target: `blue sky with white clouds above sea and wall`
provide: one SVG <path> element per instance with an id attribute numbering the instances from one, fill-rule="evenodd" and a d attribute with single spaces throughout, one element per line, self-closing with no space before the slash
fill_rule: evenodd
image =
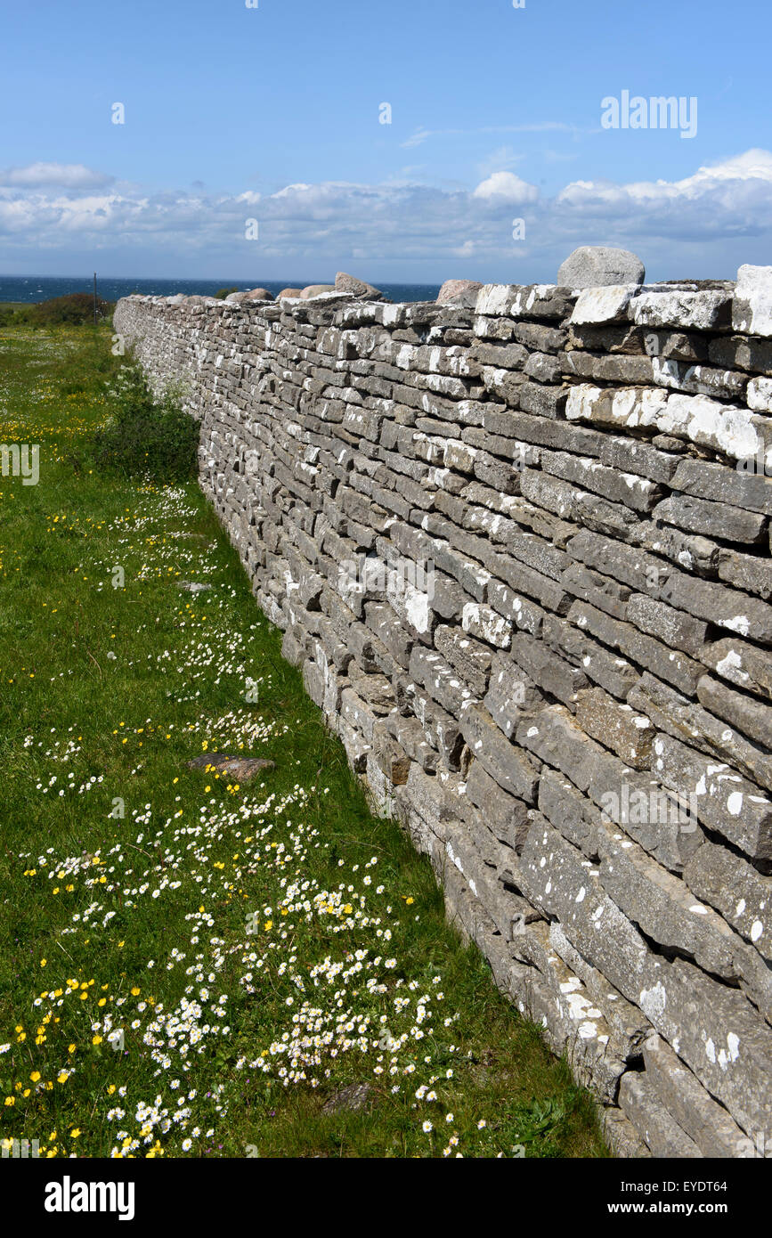
<path id="1" fill-rule="evenodd" d="M 2 0 L 0 17 L 2 274 L 528 282 L 580 244 L 633 249 L 651 279 L 772 262 L 760 0 Z M 622 92 L 648 128 L 604 128 Z M 683 98 L 694 136 L 687 113 L 653 128 L 652 97 Z"/>

